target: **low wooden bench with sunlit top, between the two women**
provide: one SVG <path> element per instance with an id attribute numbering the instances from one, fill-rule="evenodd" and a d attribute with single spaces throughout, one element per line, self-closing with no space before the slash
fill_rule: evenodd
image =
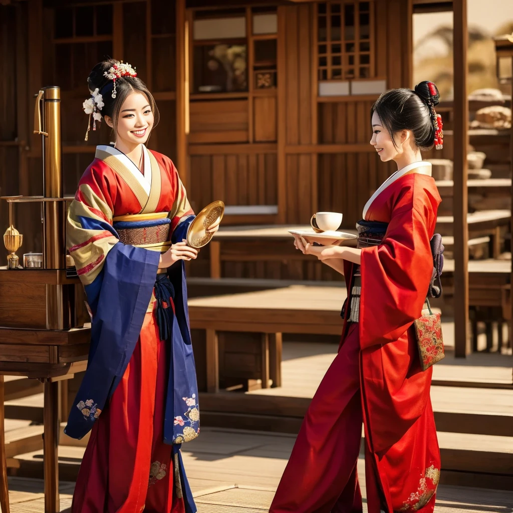
<path id="1" fill-rule="evenodd" d="M 289 285 L 189 300 L 200 390 L 281 386 L 282 333 L 340 336 L 345 285 Z"/>

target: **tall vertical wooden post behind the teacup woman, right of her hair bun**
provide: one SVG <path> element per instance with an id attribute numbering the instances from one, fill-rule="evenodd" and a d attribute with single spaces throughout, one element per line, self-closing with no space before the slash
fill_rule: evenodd
<path id="1" fill-rule="evenodd" d="M 454 320 L 455 356 L 466 357 L 471 351 L 468 336 L 468 225 L 467 225 L 467 0 L 453 4 L 454 26 Z"/>

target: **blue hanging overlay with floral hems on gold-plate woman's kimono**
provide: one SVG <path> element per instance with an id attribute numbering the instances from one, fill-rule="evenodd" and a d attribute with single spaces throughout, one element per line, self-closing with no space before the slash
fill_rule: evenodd
<path id="1" fill-rule="evenodd" d="M 194 216 L 190 216 L 176 227 L 172 235 L 173 244 L 186 238 L 187 229 L 193 219 Z M 115 233 L 111 226 L 109 231 Z M 159 259 L 158 251 L 116 243 L 107 253 L 98 277 L 85 287 L 94 315 L 87 370 L 64 429 L 71 438 L 81 439 L 90 431 L 99 415 L 97 410 L 101 412 L 105 407 L 108 408 L 108 400 L 123 378 L 139 340 L 155 286 Z M 168 335 L 172 350 L 164 415 L 164 442 L 173 445 L 173 458 L 177 458 L 179 462 L 186 513 L 195 513 L 196 506 L 180 452 L 181 444 L 173 443 L 183 430 L 180 425 L 174 426 L 175 416 L 183 415 L 184 412 L 183 398 L 195 397 L 198 400 L 183 261 L 173 264 L 168 269 L 167 276 L 172 285 L 171 289 L 174 288 L 175 314 L 172 308 L 165 309 L 169 318 L 164 322 L 170 328 Z M 157 293 L 155 297 L 159 299 Z M 90 407 L 89 415 L 84 415 L 75 405 L 91 398 L 94 404 Z M 195 424 L 199 426 L 199 421 Z"/>

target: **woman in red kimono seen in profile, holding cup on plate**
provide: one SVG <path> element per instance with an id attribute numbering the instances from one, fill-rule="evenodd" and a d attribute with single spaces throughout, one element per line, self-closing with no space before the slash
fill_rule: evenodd
<path id="1" fill-rule="evenodd" d="M 421 370 L 411 326 L 433 270 L 430 240 L 441 200 L 420 149 L 441 146 L 437 103 L 435 85 L 423 82 L 415 91 L 383 93 L 374 104 L 370 144 L 398 171 L 367 202 L 358 248 L 295 239 L 298 249 L 345 275 L 348 306 L 339 352 L 312 399 L 271 513 L 360 513 L 362 422 L 369 513 L 435 507 L 432 369 Z"/>

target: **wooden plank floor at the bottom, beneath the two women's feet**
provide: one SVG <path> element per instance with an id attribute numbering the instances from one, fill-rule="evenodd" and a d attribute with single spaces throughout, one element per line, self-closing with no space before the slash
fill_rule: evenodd
<path id="1" fill-rule="evenodd" d="M 203 428 L 200 438 L 183 446 L 185 467 L 199 513 L 268 511 L 294 438 L 276 433 Z M 73 449 L 75 457 L 80 457 L 84 450 L 64 449 Z M 358 465 L 365 500 L 363 459 Z M 73 487 L 73 483 L 61 483 L 61 511 L 70 507 Z M 9 489 L 12 513 L 44 511 L 41 480 L 9 478 Z M 512 506 L 513 492 L 441 485 L 435 511 L 511 513 Z M 365 504 L 364 511 L 367 511 Z"/>

